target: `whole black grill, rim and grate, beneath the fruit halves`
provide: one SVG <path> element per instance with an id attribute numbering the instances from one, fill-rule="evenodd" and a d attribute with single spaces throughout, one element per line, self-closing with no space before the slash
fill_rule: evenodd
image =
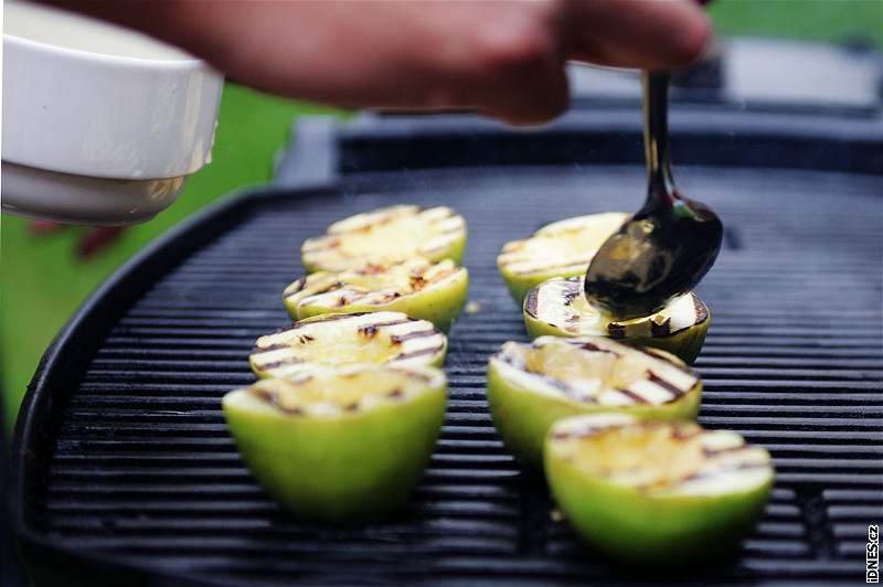
<path id="1" fill-rule="evenodd" d="M 597 105 L 596 105 L 597 106 Z M 275 186 L 233 196 L 124 267 L 60 334 L 14 439 L 12 525 L 45 584 L 641 583 L 550 516 L 542 479 L 503 449 L 485 369 L 525 340 L 497 275 L 502 244 L 575 213 L 636 209 L 635 108 L 576 110 L 539 131 L 469 116 L 366 115 L 299 127 Z M 773 453 L 778 478 L 737 557 L 678 583 L 855 583 L 883 517 L 883 127 L 869 115 L 684 105 L 685 193 L 725 246 L 701 297 L 700 421 Z M 392 519 L 330 529 L 281 512 L 249 477 L 220 398 L 287 322 L 304 238 L 392 203 L 469 223 L 470 299 L 451 332 L 448 412 L 425 479 Z M 305 474 L 309 474 L 305 471 Z"/>

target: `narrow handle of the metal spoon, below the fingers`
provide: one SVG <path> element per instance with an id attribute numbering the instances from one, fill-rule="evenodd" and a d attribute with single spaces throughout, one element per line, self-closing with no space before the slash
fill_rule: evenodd
<path id="1" fill-rule="evenodd" d="M 674 204 L 674 180 L 669 157 L 669 73 L 641 74 L 643 83 L 643 152 L 648 194 L 645 207 Z"/>

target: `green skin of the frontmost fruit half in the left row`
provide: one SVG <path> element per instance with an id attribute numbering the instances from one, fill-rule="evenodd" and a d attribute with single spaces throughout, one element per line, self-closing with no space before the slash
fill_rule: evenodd
<path id="1" fill-rule="evenodd" d="M 423 476 L 445 417 L 446 386 L 402 404 L 334 418 L 290 416 L 224 402 L 236 448 L 264 490 L 298 517 L 377 520 Z"/>

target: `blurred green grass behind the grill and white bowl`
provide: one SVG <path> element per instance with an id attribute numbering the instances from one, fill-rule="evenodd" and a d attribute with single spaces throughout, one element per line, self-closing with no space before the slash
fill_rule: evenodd
<path id="1" fill-rule="evenodd" d="M 883 0 L 717 0 L 717 31 L 837 41 L 861 36 L 883 46 Z M 269 180 L 274 154 L 298 116 L 331 113 L 227 84 L 213 162 L 195 173 L 179 201 L 156 220 L 127 231 L 95 258 L 76 258 L 83 234 L 71 228 L 35 237 L 26 222 L 0 220 L 0 389 L 9 429 L 28 382 L 52 338 L 108 275 L 147 243 L 233 189 Z"/>

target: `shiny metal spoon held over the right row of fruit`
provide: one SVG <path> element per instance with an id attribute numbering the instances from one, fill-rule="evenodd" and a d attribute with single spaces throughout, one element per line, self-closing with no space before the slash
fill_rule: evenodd
<path id="1" fill-rule="evenodd" d="M 588 301 L 620 320 L 649 316 L 689 291 L 721 249 L 723 224 L 704 204 L 682 195 L 669 162 L 667 72 L 643 72 L 643 206 L 592 259 Z"/>

